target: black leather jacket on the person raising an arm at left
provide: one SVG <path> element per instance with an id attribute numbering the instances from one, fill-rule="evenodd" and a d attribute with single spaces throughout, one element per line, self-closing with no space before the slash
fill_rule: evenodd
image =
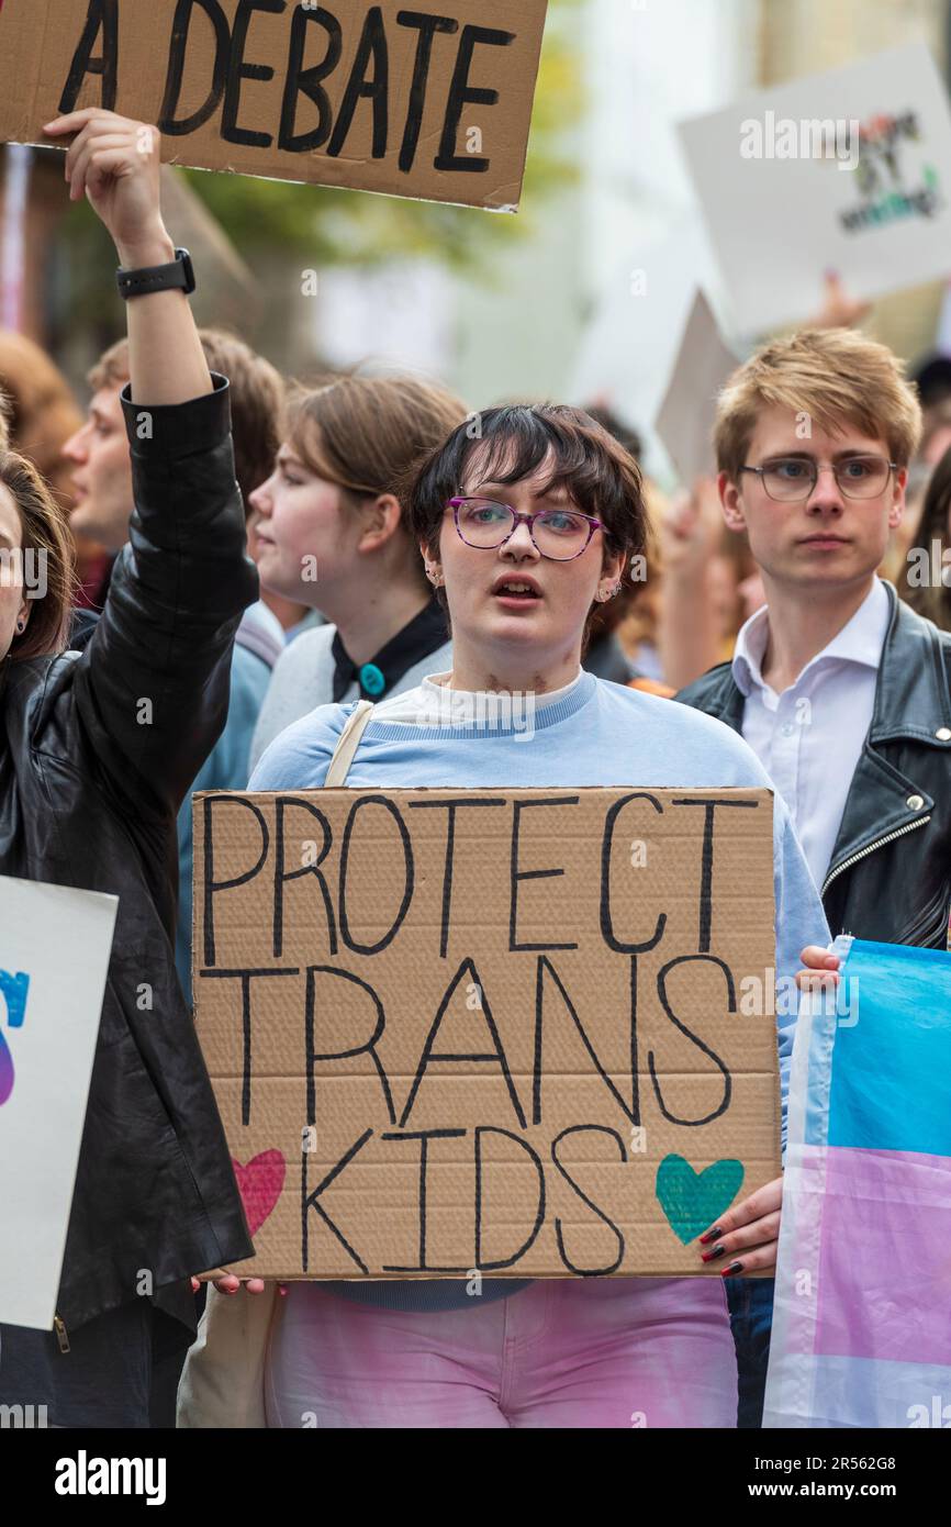
<path id="1" fill-rule="evenodd" d="M 148 1292 L 143 1272 L 194 1328 L 188 1275 L 252 1254 L 172 941 L 176 812 L 224 725 L 258 577 L 224 379 L 150 408 L 147 441 L 142 405 L 122 403 L 136 513 L 102 618 L 81 655 L 0 663 L 0 873 L 119 898 L 60 1284 L 67 1330 Z"/>

